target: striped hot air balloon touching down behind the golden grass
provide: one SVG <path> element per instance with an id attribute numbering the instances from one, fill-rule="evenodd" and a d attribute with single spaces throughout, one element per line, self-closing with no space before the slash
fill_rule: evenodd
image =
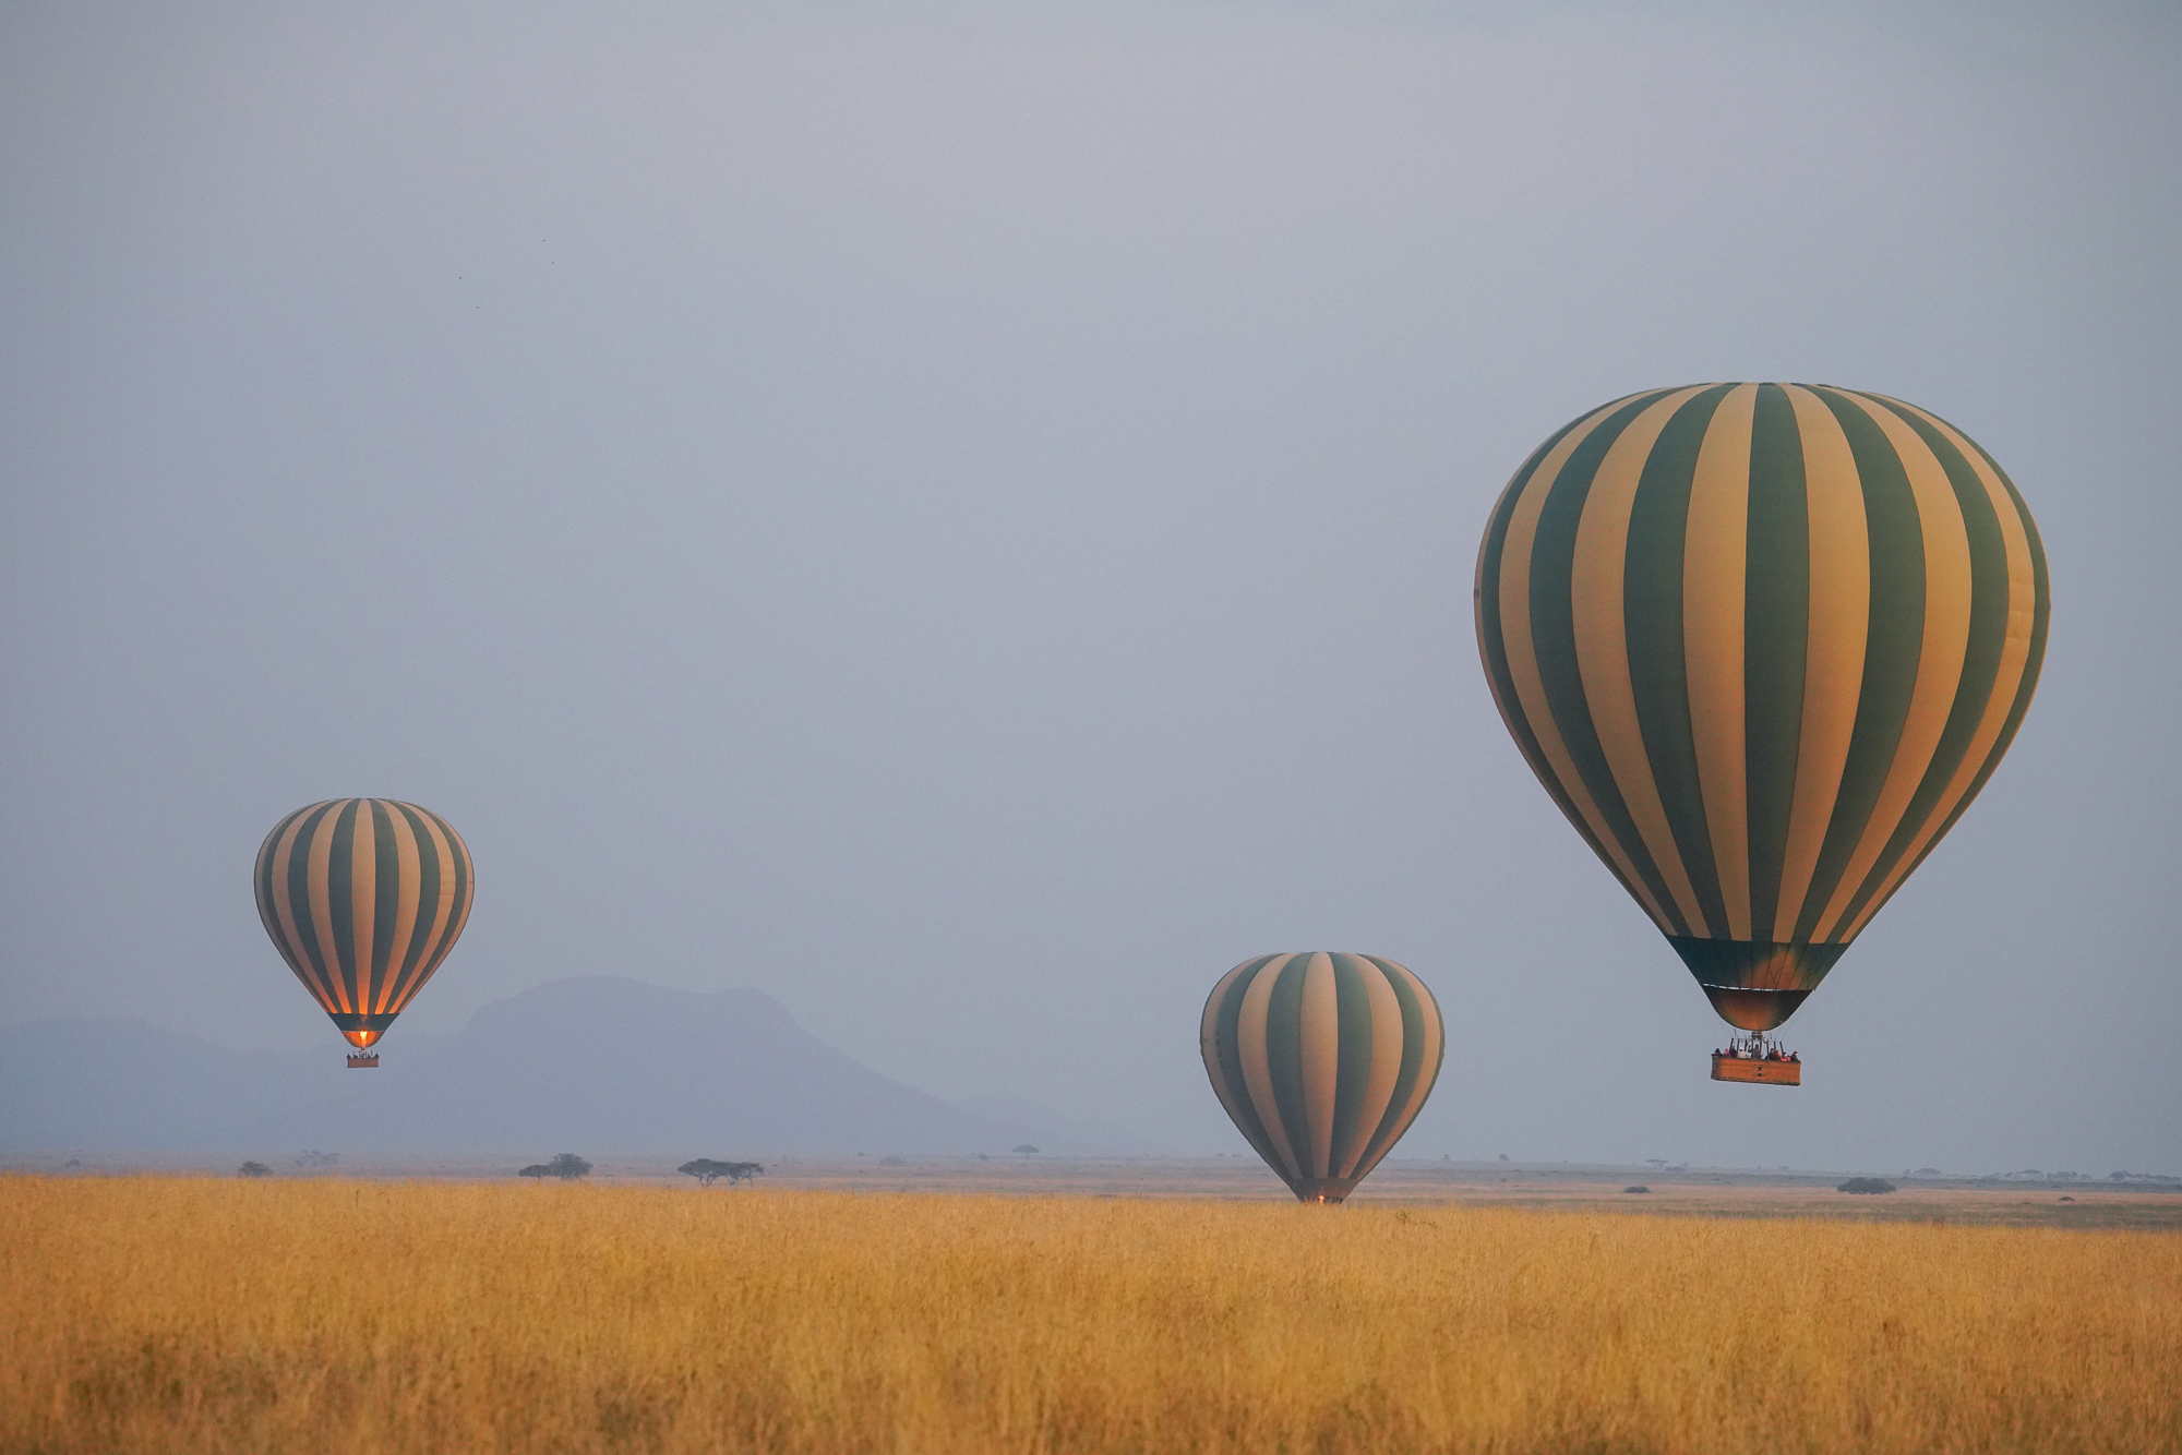
<path id="1" fill-rule="evenodd" d="M 1440 1006 L 1379 955 L 1259 955 L 1220 977 L 1198 1049 L 1220 1104 L 1298 1202 L 1340 1202 L 1440 1075 Z"/>

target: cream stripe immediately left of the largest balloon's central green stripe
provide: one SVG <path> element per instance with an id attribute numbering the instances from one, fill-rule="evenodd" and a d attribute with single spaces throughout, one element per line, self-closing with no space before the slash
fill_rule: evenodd
<path id="1" fill-rule="evenodd" d="M 1713 840 L 1728 938 L 1750 938 L 1750 766 L 1743 615 L 1750 556 L 1750 421 L 1759 386 L 1737 384 L 1713 410 L 1689 482 L 1682 537 L 1682 661 L 1698 790 Z"/>

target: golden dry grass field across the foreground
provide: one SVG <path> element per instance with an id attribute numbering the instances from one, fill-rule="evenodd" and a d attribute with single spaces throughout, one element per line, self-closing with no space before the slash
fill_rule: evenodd
<path id="1" fill-rule="evenodd" d="M 7 1176 L 0 1352 L 9 1453 L 2134 1455 L 2182 1235 Z"/>

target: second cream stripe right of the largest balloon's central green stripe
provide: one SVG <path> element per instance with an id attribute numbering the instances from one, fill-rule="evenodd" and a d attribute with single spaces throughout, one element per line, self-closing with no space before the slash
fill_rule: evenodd
<path id="1" fill-rule="evenodd" d="M 1962 524 L 1962 504 L 1955 486 L 1946 482 L 1940 456 L 1903 423 L 1901 414 L 1868 399 L 1842 390 L 1857 408 L 1872 417 L 1894 447 L 1909 476 L 1909 491 L 1916 495 L 1918 528 L 1925 537 L 1925 641 L 1916 659 L 1916 685 L 1909 689 L 1909 713 L 1903 718 L 1903 735 L 1894 746 L 1894 761 L 1887 766 L 1887 781 L 1872 805 L 1872 818 L 1863 825 L 1863 838 L 1842 870 L 1842 881 L 1833 890 L 1833 901 L 1818 916 L 1813 940 L 1833 940 L 1839 921 L 1848 912 L 1848 901 L 1857 897 L 1863 877 L 1885 851 L 1909 798 L 1916 796 L 1931 755 L 1946 731 L 1946 716 L 1955 707 L 1955 689 L 1962 687 L 1962 654 L 1970 646 L 1970 532 Z"/>

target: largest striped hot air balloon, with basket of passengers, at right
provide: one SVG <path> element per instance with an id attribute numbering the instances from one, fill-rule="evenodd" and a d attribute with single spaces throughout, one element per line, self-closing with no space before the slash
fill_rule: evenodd
<path id="1" fill-rule="evenodd" d="M 2038 685 L 2047 563 L 2016 486 L 1901 399 L 1650 390 L 1514 473 L 1475 604 L 1523 757 L 1746 1032 L 1715 1080 L 1800 1082 L 1765 1032 L 1955 825 Z"/>

